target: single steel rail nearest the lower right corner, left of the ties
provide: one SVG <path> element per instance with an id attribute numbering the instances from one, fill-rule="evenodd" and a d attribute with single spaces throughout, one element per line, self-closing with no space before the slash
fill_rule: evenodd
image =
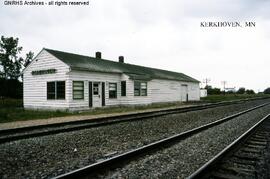
<path id="1" fill-rule="evenodd" d="M 229 144 L 226 148 L 224 148 L 221 152 L 219 152 L 216 156 L 214 156 L 211 160 L 201 166 L 197 171 L 191 174 L 188 179 L 201 179 L 205 176 L 209 171 L 213 169 L 213 167 L 225 156 L 227 156 L 231 151 L 233 151 L 238 145 L 244 143 L 249 136 L 251 136 L 258 127 L 267 119 L 270 118 L 270 114 L 263 117 L 259 122 L 257 122 L 254 126 L 252 126 L 249 130 L 247 130 L 244 134 L 238 137 L 235 141 Z"/>

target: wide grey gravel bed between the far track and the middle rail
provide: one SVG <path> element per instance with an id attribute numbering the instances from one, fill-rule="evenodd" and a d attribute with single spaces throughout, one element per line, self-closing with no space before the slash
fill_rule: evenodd
<path id="1" fill-rule="evenodd" d="M 269 99 L 0 144 L 0 178 L 51 178 Z"/>

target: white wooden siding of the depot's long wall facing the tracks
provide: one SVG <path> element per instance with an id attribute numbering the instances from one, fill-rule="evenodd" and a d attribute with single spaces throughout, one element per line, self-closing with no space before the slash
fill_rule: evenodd
<path id="1" fill-rule="evenodd" d="M 70 108 L 89 107 L 88 82 L 105 82 L 105 104 L 138 105 L 159 102 L 181 101 L 181 85 L 187 85 L 189 100 L 199 100 L 199 84 L 170 80 L 151 80 L 147 82 L 147 96 L 134 96 L 134 81 L 125 74 L 73 71 L 69 73 L 67 88 L 72 89 L 72 81 L 84 81 L 84 99 L 73 100 L 72 90 L 67 92 Z M 126 81 L 126 96 L 121 96 L 121 81 Z M 117 83 L 117 98 L 109 98 L 109 83 Z"/>

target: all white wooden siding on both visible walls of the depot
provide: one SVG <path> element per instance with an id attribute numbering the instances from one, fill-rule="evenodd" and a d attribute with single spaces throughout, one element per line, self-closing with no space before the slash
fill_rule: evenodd
<path id="1" fill-rule="evenodd" d="M 32 71 L 55 68 L 55 74 L 32 75 Z M 47 100 L 47 82 L 65 81 L 65 100 Z M 73 81 L 84 81 L 84 99 L 73 100 Z M 118 73 L 70 71 L 68 65 L 58 60 L 46 50 L 34 59 L 24 70 L 24 107 L 41 109 L 89 109 L 88 83 L 105 83 L 105 104 L 139 105 L 160 102 L 181 101 L 181 85 L 187 85 L 189 100 L 200 99 L 199 83 L 153 79 L 147 82 L 147 96 L 134 96 L 134 81 L 129 76 Z M 121 81 L 126 81 L 126 96 L 121 96 Z M 109 98 L 109 83 L 117 83 L 117 98 Z"/>

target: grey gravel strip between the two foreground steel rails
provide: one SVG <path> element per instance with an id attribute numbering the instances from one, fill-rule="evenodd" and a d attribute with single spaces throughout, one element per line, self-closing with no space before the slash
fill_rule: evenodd
<path id="1" fill-rule="evenodd" d="M 99 177 L 186 178 L 269 113 L 268 105 Z"/>

